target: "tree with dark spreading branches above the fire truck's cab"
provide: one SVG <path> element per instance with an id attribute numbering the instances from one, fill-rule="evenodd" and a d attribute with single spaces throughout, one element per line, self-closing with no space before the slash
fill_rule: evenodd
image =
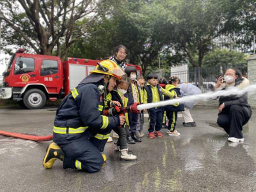
<path id="1" fill-rule="evenodd" d="M 64 58 L 102 11 L 97 0 L 0 0 L 5 43 Z M 102 2 L 102 1 L 99 1 Z M 90 15 L 90 16 L 89 16 Z M 80 20 L 83 19 L 83 26 Z"/>

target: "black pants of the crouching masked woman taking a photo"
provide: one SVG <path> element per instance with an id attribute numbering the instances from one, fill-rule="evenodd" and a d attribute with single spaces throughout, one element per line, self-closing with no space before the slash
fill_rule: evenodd
<path id="1" fill-rule="evenodd" d="M 250 117 L 249 109 L 240 105 L 232 105 L 230 109 L 223 110 L 218 114 L 217 124 L 224 128 L 229 137 L 241 139 L 243 138 L 243 125 L 248 122 Z"/>

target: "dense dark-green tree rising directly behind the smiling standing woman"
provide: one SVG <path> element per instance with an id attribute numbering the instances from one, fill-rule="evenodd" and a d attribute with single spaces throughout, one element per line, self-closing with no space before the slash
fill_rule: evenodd
<path id="1" fill-rule="evenodd" d="M 87 37 L 72 46 L 69 56 L 105 58 L 113 55 L 115 46 L 123 44 L 129 50 L 129 62 L 140 64 L 144 74 L 148 66 L 158 66 L 159 54 L 167 57 L 163 49 L 167 26 L 161 6 L 156 9 L 155 4 L 144 0 L 112 0 L 111 5 L 111 14 L 101 15 Z"/>

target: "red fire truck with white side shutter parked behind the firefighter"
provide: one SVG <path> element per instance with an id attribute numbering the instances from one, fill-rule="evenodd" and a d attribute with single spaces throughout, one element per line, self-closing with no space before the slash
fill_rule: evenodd
<path id="1" fill-rule="evenodd" d="M 3 73 L 1 99 L 13 99 L 27 109 L 41 109 L 47 101 L 64 98 L 90 74 L 99 60 L 68 58 L 24 53 L 19 49 L 11 56 Z M 137 69 L 138 65 L 127 64 Z"/>

